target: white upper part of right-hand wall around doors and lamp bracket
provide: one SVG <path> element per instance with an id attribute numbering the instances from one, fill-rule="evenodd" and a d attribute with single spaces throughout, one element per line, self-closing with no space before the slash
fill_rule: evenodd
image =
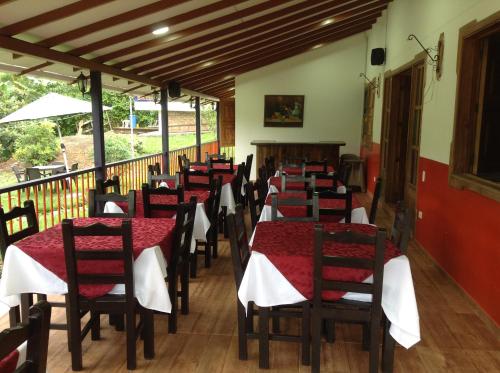
<path id="1" fill-rule="evenodd" d="M 459 29 L 499 10 L 500 0 L 395 0 L 372 30 L 367 32 L 370 50 L 387 48 L 385 66 L 370 66 L 369 61 L 367 64 L 367 75 L 373 78 L 382 74 L 382 82 L 385 71 L 397 69 L 421 52 L 416 41 L 407 40 L 409 34 L 415 34 L 426 47 L 435 47 L 439 35 L 444 32 L 443 75 L 440 81 L 436 80 L 432 67 L 427 65 L 420 148 L 422 157 L 449 163 L 455 116 Z M 380 98 L 375 101 L 375 142 L 380 142 L 382 93 L 383 89 Z"/>

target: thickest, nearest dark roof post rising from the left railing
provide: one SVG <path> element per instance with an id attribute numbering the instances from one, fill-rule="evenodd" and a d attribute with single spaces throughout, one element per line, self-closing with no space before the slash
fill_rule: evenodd
<path id="1" fill-rule="evenodd" d="M 102 81 L 100 71 L 90 72 L 90 96 L 92 102 L 92 134 L 94 138 L 94 166 L 96 178 L 104 180 L 104 119 L 102 114 Z"/>

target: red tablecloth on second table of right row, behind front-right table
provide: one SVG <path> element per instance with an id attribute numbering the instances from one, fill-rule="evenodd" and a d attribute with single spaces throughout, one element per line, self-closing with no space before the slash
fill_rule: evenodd
<path id="1" fill-rule="evenodd" d="M 288 199 L 288 198 L 297 198 L 297 199 L 306 199 L 306 192 L 280 192 L 278 193 L 278 200 L 280 199 Z M 269 194 L 266 198 L 266 205 L 271 206 L 271 195 Z M 279 204 L 278 204 L 279 205 Z M 338 199 L 320 199 L 319 207 L 324 209 L 342 209 L 345 208 L 345 201 Z M 358 199 L 353 196 L 352 197 L 352 209 L 356 209 L 361 207 Z M 307 207 L 306 206 L 279 206 L 279 211 L 285 217 L 302 217 L 307 215 Z M 340 215 L 321 215 L 320 221 L 330 221 L 330 222 L 338 222 L 342 220 L 343 217 Z"/>

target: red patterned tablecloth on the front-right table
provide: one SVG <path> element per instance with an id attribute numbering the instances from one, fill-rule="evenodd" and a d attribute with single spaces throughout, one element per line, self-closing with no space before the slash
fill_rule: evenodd
<path id="1" fill-rule="evenodd" d="M 313 297 L 313 252 L 314 225 L 304 222 L 260 222 L 257 224 L 252 251 L 264 254 L 283 276 L 305 298 Z M 355 230 L 365 234 L 375 234 L 376 228 L 365 224 L 325 223 L 324 229 L 330 232 Z M 329 244 L 324 248 L 329 255 L 373 258 L 374 250 L 370 245 Z M 385 262 L 401 255 L 390 242 L 386 242 Z M 370 270 L 351 268 L 328 268 L 325 278 L 339 281 L 363 281 L 372 274 Z M 327 291 L 323 297 L 338 300 L 344 292 Z"/>

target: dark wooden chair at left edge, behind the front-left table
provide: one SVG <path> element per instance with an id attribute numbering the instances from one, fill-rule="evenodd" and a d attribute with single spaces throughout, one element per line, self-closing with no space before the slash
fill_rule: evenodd
<path id="1" fill-rule="evenodd" d="M 12 220 L 22 219 L 22 218 L 26 218 L 27 227 L 10 234 L 7 228 L 8 223 Z M 9 212 L 4 212 L 3 208 L 0 207 L 0 257 L 2 258 L 2 261 L 5 260 L 5 252 L 7 251 L 9 245 L 12 245 L 17 241 L 22 240 L 23 238 L 26 238 L 38 232 L 39 232 L 38 219 L 36 216 L 35 205 L 33 201 L 31 200 L 24 201 L 24 207 L 16 206 Z M 40 299 L 44 298 L 44 296 L 39 296 L 39 297 Z M 29 297 L 29 299 L 26 298 L 25 301 L 31 303 L 32 302 L 31 297 Z M 29 305 L 29 303 L 26 303 L 23 307 L 24 313 L 26 313 L 27 311 L 27 305 Z M 10 326 L 16 325 L 20 320 L 21 318 L 19 313 L 19 307 L 11 308 L 9 311 Z"/>

